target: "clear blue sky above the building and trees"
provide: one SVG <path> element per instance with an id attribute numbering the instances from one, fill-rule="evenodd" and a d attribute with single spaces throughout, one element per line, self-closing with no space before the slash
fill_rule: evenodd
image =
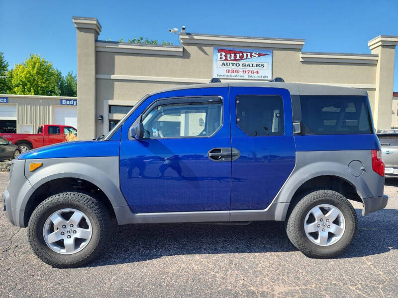
<path id="1" fill-rule="evenodd" d="M 11 68 L 37 53 L 76 73 L 74 15 L 97 17 L 99 39 L 114 41 L 141 35 L 178 44 L 168 29 L 185 25 L 194 33 L 303 38 L 306 52 L 369 54 L 370 39 L 398 35 L 398 0 L 0 0 L 0 52 Z"/>

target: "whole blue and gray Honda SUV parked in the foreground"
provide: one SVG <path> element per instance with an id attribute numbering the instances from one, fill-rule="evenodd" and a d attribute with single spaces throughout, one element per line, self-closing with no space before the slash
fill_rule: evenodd
<path id="1" fill-rule="evenodd" d="M 101 140 L 19 155 L 3 193 L 7 217 L 28 227 L 41 260 L 62 268 L 100 254 L 112 217 L 286 221 L 305 255 L 334 257 L 357 230 L 348 199 L 363 203 L 363 215 L 388 202 L 372 121 L 359 89 L 231 82 L 161 90 Z"/>

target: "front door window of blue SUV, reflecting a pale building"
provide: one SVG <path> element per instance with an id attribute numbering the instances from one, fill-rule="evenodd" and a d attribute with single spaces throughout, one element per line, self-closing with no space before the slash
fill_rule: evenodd
<path id="1" fill-rule="evenodd" d="M 211 136 L 221 126 L 221 103 L 158 105 L 142 123 L 146 139 Z"/>

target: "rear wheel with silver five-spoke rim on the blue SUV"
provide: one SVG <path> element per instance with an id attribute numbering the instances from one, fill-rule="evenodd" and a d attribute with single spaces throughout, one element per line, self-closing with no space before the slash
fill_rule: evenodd
<path id="1" fill-rule="evenodd" d="M 329 213 L 332 207 L 333 214 Z M 337 212 L 339 215 L 332 221 Z M 326 225 L 323 226 L 324 224 Z M 286 222 L 286 232 L 290 241 L 304 255 L 313 258 L 331 258 L 341 254 L 351 243 L 357 228 L 357 215 L 351 203 L 343 195 L 332 190 L 312 190 L 304 193 L 292 206 Z M 318 231 L 310 232 L 313 229 Z M 331 230 L 337 233 L 334 234 Z M 327 242 L 324 241 L 325 237 Z"/>

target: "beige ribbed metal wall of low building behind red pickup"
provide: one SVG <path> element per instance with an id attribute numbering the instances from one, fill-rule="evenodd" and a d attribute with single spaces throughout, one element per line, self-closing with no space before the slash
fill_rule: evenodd
<path id="1" fill-rule="evenodd" d="M 37 127 L 41 124 L 59 124 L 53 122 L 53 107 L 65 107 L 61 105 L 61 99 L 77 99 L 76 97 L 64 96 L 13 94 L 0 94 L 0 97 L 8 97 L 8 103 L 0 103 L 0 109 L 5 105 L 16 107 L 17 133 L 23 133 L 23 128 L 26 128 L 26 126 L 30 126 L 32 132 L 36 133 Z"/>

